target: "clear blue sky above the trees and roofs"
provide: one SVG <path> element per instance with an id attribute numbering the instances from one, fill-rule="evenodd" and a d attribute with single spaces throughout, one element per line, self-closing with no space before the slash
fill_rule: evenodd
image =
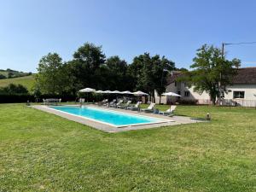
<path id="1" fill-rule="evenodd" d="M 0 68 L 36 72 L 43 55 L 68 61 L 85 42 L 128 62 L 147 51 L 189 67 L 202 44 L 256 41 L 255 24 L 253 0 L 0 0 Z M 256 66 L 256 44 L 226 48 Z"/>

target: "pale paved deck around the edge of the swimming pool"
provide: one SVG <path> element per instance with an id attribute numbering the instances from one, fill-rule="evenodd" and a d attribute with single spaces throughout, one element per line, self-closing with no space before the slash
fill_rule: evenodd
<path id="1" fill-rule="evenodd" d="M 69 105 L 71 106 L 71 105 Z M 77 105 L 73 105 L 77 106 Z M 113 125 L 107 125 L 101 122 L 96 122 L 91 119 L 85 119 L 84 117 L 81 117 L 79 115 L 73 115 L 70 113 L 63 113 L 59 110 L 55 110 L 52 108 L 48 108 L 44 105 L 34 105 L 32 108 L 39 109 L 41 111 L 47 112 L 47 113 L 53 113 L 55 115 L 61 116 L 62 118 L 73 120 L 75 122 L 78 122 L 80 124 L 89 125 L 90 127 L 96 128 L 97 130 L 106 131 L 106 132 L 120 132 L 120 131 L 131 131 L 131 130 L 143 130 L 143 129 L 151 129 L 156 127 L 162 127 L 162 126 L 172 126 L 172 125 L 182 125 L 182 124 L 192 124 L 192 123 L 201 123 L 206 122 L 205 120 L 201 119 L 193 119 L 186 116 L 177 116 L 174 115 L 173 117 L 168 117 L 160 114 L 154 114 L 154 113 L 143 113 L 143 112 L 137 112 L 137 111 L 131 111 L 131 110 L 125 110 L 125 109 L 119 109 L 119 108 L 105 108 L 105 107 L 98 107 L 96 105 L 87 105 L 93 108 L 102 108 L 102 109 L 108 109 L 113 110 L 115 112 L 121 112 L 121 113 L 129 113 L 129 114 L 135 114 L 135 115 L 143 115 L 146 117 L 153 117 L 158 119 L 166 120 L 167 122 L 161 122 L 161 123 L 153 123 L 153 124 L 146 124 L 146 125 L 128 125 L 128 126 L 122 126 L 122 127 L 115 127 Z"/>

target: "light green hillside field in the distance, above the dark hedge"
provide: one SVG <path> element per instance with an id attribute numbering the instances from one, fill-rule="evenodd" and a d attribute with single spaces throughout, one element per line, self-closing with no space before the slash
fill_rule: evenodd
<path id="1" fill-rule="evenodd" d="M 0 79 L 0 87 L 7 86 L 8 84 L 22 84 L 26 86 L 27 90 L 31 90 L 34 82 L 35 82 L 34 75 L 20 77 L 20 78 L 13 78 L 13 79 Z"/>

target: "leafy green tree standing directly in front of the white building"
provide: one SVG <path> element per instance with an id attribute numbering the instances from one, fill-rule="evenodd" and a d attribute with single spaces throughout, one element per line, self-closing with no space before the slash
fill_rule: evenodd
<path id="1" fill-rule="evenodd" d="M 227 92 L 226 86 L 232 84 L 232 79 L 241 61 L 238 59 L 228 61 L 225 55 L 222 55 L 221 49 L 207 44 L 197 49 L 193 61 L 194 64 L 190 67 L 194 70 L 187 73 L 186 80 L 195 86 L 196 92 L 206 91 L 215 105 L 216 100 L 222 97 L 220 93 Z"/>

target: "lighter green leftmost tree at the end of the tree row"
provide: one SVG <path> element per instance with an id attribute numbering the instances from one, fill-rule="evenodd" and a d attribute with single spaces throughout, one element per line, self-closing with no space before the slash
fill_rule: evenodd
<path id="1" fill-rule="evenodd" d="M 63 63 L 60 55 L 49 53 L 44 55 L 38 64 L 37 84 L 44 94 L 61 94 L 67 82 L 63 73 Z"/>

